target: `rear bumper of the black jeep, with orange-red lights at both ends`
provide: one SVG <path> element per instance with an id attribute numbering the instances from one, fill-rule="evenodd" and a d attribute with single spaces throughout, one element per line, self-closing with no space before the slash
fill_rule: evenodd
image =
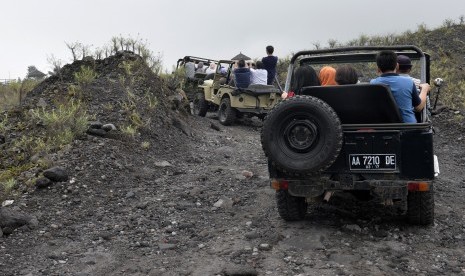
<path id="1" fill-rule="evenodd" d="M 272 179 L 271 187 L 275 190 L 287 190 L 298 197 L 317 197 L 327 191 L 371 191 L 384 199 L 403 199 L 409 191 L 429 191 L 433 182 L 407 180 L 361 180 L 343 183 L 329 179 L 284 180 Z"/>

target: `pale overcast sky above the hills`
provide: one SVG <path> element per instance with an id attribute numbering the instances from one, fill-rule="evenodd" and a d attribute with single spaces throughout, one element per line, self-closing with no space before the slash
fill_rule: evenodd
<path id="1" fill-rule="evenodd" d="M 465 14 L 463 0 L 5 0 L 0 15 L 0 79 L 24 78 L 29 65 L 51 70 L 47 57 L 71 61 L 65 42 L 94 47 L 113 36 L 147 40 L 171 70 L 185 55 L 230 59 L 312 49 L 361 34 L 429 28 Z"/>

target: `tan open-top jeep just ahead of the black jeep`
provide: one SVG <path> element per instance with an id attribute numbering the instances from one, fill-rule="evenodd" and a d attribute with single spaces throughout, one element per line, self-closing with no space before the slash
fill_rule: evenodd
<path id="1" fill-rule="evenodd" d="M 195 115 L 204 117 L 208 111 L 217 111 L 223 125 L 231 125 L 238 117 L 264 118 L 281 100 L 281 90 L 272 85 L 250 85 L 239 89 L 231 85 L 232 60 L 220 60 L 211 79 L 204 80 L 193 101 Z"/>

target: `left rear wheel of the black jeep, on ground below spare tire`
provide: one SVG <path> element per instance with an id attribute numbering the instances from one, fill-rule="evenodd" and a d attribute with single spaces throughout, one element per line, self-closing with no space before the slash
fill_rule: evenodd
<path id="1" fill-rule="evenodd" d="M 278 213 L 286 221 L 302 220 L 307 214 L 307 203 L 304 197 L 292 196 L 286 190 L 276 192 Z"/>

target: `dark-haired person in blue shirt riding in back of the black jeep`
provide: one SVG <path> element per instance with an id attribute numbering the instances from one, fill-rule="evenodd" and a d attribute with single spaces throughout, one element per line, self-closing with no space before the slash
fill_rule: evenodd
<path id="1" fill-rule="evenodd" d="M 391 50 L 380 51 L 376 56 L 379 77 L 370 81 L 371 84 L 385 84 L 391 88 L 391 93 L 399 107 L 404 123 L 416 123 L 415 111 L 421 111 L 426 104 L 426 96 L 431 87 L 427 83 L 420 84 L 420 95 L 412 79 L 399 76 L 396 70 L 397 54 Z"/>

